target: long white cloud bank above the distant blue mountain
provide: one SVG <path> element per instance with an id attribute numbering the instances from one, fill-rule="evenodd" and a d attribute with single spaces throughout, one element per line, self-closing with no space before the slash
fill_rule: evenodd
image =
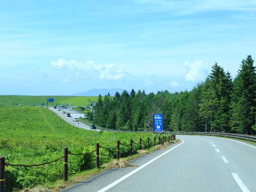
<path id="1" fill-rule="evenodd" d="M 50 66 L 58 70 L 73 70 L 75 76 L 80 76 L 82 73 L 97 74 L 100 79 L 117 80 L 126 76 L 122 69 L 116 68 L 112 63 L 110 64 L 94 64 L 93 61 L 77 62 L 76 60 L 64 60 L 62 58 L 57 61 L 52 61 Z"/>

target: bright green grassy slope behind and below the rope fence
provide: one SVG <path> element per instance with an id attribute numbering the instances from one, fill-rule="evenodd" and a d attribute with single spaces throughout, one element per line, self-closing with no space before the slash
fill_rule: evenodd
<path id="1" fill-rule="evenodd" d="M 128 144 L 132 138 L 144 140 L 152 134 L 96 132 L 78 129 L 64 122 L 54 112 L 41 107 L 0 107 L 0 156 L 12 164 L 37 164 L 63 155 L 63 148 L 73 153 L 85 153 L 102 146 L 116 146 L 120 140 Z M 138 149 L 134 146 L 134 149 Z M 115 152 L 100 149 L 100 163 L 112 160 Z M 128 148 L 121 147 L 122 156 Z M 69 175 L 95 167 L 95 154 L 69 156 Z M 31 187 L 62 178 L 63 160 L 40 167 L 7 166 L 7 187 Z"/>

